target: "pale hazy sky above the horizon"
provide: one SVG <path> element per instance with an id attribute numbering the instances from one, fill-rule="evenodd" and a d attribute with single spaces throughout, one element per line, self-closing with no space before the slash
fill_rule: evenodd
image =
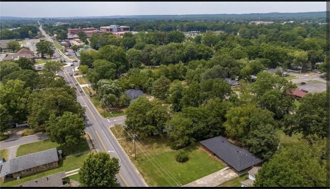
<path id="1" fill-rule="evenodd" d="M 326 2 L 0 2 L 0 16 L 74 17 L 297 13 L 326 11 Z"/>

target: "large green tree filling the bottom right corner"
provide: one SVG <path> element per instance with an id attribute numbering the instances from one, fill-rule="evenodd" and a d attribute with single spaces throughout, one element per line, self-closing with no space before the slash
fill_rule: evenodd
<path id="1" fill-rule="evenodd" d="M 273 158 L 261 166 L 256 174 L 256 187 L 324 187 L 326 186 L 326 163 L 317 154 L 325 152 L 322 145 L 300 141 L 280 148 Z"/>

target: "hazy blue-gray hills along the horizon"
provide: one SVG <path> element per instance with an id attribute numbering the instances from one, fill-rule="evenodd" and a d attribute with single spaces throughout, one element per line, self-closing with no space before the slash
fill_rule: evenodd
<path id="1" fill-rule="evenodd" d="M 249 13 L 249 14 L 194 14 L 194 15 L 131 15 L 131 16 L 87 16 L 87 17 L 52 17 L 52 19 L 75 19 L 75 18 L 264 18 L 264 17 L 294 17 L 294 18 L 306 18 L 306 17 L 326 17 L 326 11 L 323 12 L 305 12 L 305 13 Z M 38 18 L 24 18 L 24 17 L 13 17 L 13 16 L 0 16 L 0 20 L 41 20 L 43 18 L 51 17 L 38 17 Z"/>

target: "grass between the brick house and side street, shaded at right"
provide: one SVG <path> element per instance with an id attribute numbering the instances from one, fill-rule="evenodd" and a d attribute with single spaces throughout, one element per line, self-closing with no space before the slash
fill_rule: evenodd
<path id="1" fill-rule="evenodd" d="M 38 142 L 32 142 L 32 143 L 28 143 L 28 144 L 23 144 L 18 147 L 16 156 L 17 157 L 24 156 L 27 154 L 40 152 L 40 151 L 43 151 L 46 149 L 51 149 L 54 147 L 57 147 L 57 149 L 62 149 L 62 147 L 59 144 L 57 144 L 56 142 L 50 141 L 50 139 L 41 140 Z M 87 151 L 87 150 L 89 150 L 89 146 L 85 139 L 84 142 L 80 143 L 79 146 L 75 147 L 74 149 L 70 149 L 70 150 L 62 149 L 62 150 L 63 150 L 63 154 L 65 156 L 68 156 L 68 155 Z"/>

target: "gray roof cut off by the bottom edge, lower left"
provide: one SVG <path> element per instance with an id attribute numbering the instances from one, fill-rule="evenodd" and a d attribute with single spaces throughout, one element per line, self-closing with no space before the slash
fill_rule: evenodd
<path id="1" fill-rule="evenodd" d="M 28 181 L 17 185 L 17 187 L 59 187 L 63 185 L 62 178 L 65 177 L 65 172 L 56 173 L 53 175 L 38 178 L 36 180 Z"/>

